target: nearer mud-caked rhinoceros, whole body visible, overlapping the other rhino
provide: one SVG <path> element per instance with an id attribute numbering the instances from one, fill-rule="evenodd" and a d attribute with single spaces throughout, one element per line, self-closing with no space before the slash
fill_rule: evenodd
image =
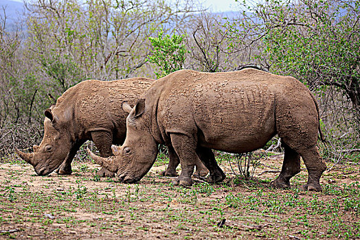
<path id="1" fill-rule="evenodd" d="M 123 109 L 128 110 L 126 103 Z M 157 144 L 172 145 L 181 163 L 175 184 L 192 184 L 196 159 L 209 169 L 209 180 L 223 179 L 207 149 L 251 152 L 275 134 L 284 143 L 284 162 L 277 188 L 290 187 L 300 172 L 300 156 L 308 170 L 305 190 L 322 191 L 326 170 L 317 151 L 319 111 L 311 92 L 293 77 L 256 69 L 227 73 L 182 70 L 157 80 L 126 119 L 126 139 L 113 146 L 115 156 L 95 162 L 117 171 L 120 180 L 137 182 L 153 165 Z"/>

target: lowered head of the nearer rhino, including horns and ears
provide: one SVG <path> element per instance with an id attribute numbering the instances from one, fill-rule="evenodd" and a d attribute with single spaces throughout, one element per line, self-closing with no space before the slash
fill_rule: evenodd
<path id="1" fill-rule="evenodd" d="M 89 149 L 88 152 L 96 163 L 116 172 L 120 181 L 132 183 L 142 179 L 155 163 L 157 143 L 147 123 L 150 116 L 146 113 L 145 99 L 139 99 L 134 108 L 124 102 L 122 109 L 129 112 L 124 144 L 120 147 L 112 145 L 114 156 L 109 158 L 96 156 Z"/>

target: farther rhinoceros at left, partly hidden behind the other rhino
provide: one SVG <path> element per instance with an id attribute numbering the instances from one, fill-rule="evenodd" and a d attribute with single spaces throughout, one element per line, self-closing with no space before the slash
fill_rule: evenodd
<path id="1" fill-rule="evenodd" d="M 23 153 L 15 148 L 16 153 L 33 165 L 40 176 L 55 169 L 59 174 L 71 174 L 71 161 L 87 140 L 95 143 L 101 156 L 111 156 L 111 144 L 122 144 L 126 136 L 127 113 L 121 110 L 122 101 L 135 104 L 153 82 L 155 80 L 144 77 L 80 82 L 45 110 L 43 141 L 33 146 L 34 152 Z M 170 162 L 163 174 L 176 176 L 179 159 L 171 146 L 168 152 Z M 199 160 L 196 174 L 204 176 L 207 172 Z M 98 175 L 113 176 L 114 173 L 102 168 Z"/>

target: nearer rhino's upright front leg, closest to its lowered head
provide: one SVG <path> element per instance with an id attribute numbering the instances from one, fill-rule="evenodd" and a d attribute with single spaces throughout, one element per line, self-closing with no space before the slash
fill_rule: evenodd
<path id="1" fill-rule="evenodd" d="M 180 176 L 172 180 L 175 185 L 192 186 L 192 173 L 196 158 L 196 141 L 192 137 L 183 134 L 171 134 L 171 143 L 177 156 L 180 158 L 181 173 Z"/>

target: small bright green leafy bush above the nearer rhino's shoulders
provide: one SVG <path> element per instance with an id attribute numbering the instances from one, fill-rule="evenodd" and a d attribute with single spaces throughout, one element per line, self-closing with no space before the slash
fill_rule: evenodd
<path id="1" fill-rule="evenodd" d="M 148 56 L 148 61 L 157 64 L 160 72 L 155 72 L 158 78 L 164 77 L 169 73 L 183 68 L 183 63 L 188 52 L 183 45 L 185 35 L 173 34 L 165 35 L 161 29 L 157 38 L 150 37 L 150 43 L 153 45 L 152 55 Z"/>

